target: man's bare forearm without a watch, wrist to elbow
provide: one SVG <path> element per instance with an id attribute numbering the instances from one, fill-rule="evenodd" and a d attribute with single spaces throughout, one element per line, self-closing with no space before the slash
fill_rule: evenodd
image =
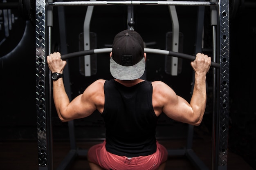
<path id="1" fill-rule="evenodd" d="M 195 83 L 190 105 L 193 110 L 193 121 L 199 125 L 202 121 L 207 102 L 206 75 L 195 73 Z"/>

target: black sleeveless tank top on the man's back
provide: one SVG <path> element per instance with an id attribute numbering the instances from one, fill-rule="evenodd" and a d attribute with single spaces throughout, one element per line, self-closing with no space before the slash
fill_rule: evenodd
<path id="1" fill-rule="evenodd" d="M 126 157 L 153 154 L 157 116 L 152 105 L 151 82 L 126 87 L 113 79 L 106 80 L 104 93 L 101 115 L 106 126 L 106 150 Z"/>

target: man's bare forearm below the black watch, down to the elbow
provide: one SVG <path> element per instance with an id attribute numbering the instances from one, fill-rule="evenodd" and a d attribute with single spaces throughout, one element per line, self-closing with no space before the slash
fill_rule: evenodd
<path id="1" fill-rule="evenodd" d="M 66 121 L 64 113 L 67 110 L 68 104 L 70 104 L 70 99 L 65 91 L 62 78 L 53 81 L 53 99 L 58 117 L 61 119 L 61 121 Z"/>

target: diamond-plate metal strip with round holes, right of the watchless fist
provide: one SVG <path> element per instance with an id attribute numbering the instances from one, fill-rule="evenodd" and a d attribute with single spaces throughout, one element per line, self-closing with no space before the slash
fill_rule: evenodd
<path id="1" fill-rule="evenodd" d="M 229 1 L 219 1 L 220 30 L 220 113 L 219 113 L 219 160 L 218 166 L 227 166 L 229 125 Z"/>

